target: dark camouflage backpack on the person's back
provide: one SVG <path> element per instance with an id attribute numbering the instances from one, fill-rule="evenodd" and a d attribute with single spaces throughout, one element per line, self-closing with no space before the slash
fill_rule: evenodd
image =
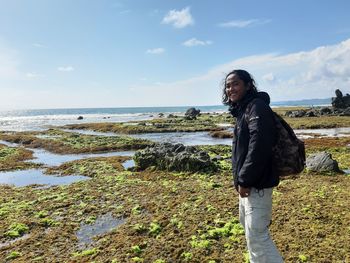
<path id="1" fill-rule="evenodd" d="M 251 107 L 252 103 L 249 103 L 245 112 L 246 120 Z M 276 143 L 272 148 L 273 171 L 280 177 L 301 173 L 306 159 L 304 142 L 297 138 L 281 116 L 274 111 L 272 114 L 276 126 Z"/>

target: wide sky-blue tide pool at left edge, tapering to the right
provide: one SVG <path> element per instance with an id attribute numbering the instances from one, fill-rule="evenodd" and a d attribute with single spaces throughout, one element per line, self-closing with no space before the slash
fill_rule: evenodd
<path id="1" fill-rule="evenodd" d="M 53 185 L 67 185 L 77 181 L 84 181 L 90 179 L 86 176 L 52 176 L 45 175 L 41 169 L 30 169 L 20 171 L 10 171 L 0 173 L 0 184 L 14 185 L 16 187 L 23 187 L 33 184 L 53 186 Z"/>

